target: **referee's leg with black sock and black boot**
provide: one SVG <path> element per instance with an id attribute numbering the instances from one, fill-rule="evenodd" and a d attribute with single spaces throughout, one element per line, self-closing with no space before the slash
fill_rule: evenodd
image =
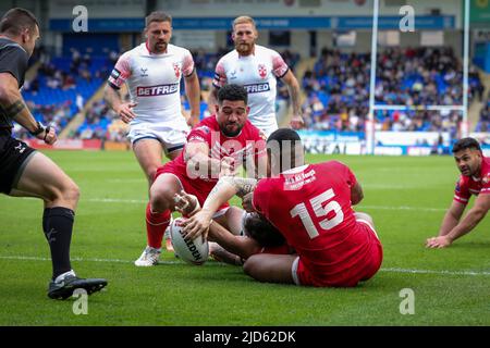
<path id="1" fill-rule="evenodd" d="M 52 281 L 48 296 L 65 299 L 76 288 L 84 288 L 87 294 L 100 290 L 107 285 L 101 278 L 78 278 L 70 262 L 75 209 L 79 190 L 76 184 L 48 157 L 34 152 L 26 160 L 26 165 L 19 182 L 9 194 L 15 197 L 38 197 L 45 202 L 42 229 L 51 250 Z"/>

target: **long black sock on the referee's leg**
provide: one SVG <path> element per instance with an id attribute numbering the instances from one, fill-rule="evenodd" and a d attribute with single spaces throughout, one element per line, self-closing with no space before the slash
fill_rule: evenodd
<path id="1" fill-rule="evenodd" d="M 70 244 L 75 212 L 68 208 L 47 208 L 42 215 L 42 229 L 51 249 L 52 278 L 72 270 Z"/>

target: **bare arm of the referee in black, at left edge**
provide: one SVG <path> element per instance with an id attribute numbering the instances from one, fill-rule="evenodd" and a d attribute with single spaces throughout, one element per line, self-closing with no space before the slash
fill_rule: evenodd
<path id="1" fill-rule="evenodd" d="M 14 120 L 38 139 L 52 145 L 57 141 L 54 128 L 45 127 L 34 119 L 19 91 L 19 83 L 10 73 L 0 73 L 0 107 L 9 119 Z"/>

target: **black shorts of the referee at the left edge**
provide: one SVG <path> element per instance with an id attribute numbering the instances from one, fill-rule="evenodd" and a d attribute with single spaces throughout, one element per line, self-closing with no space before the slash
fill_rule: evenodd
<path id="1" fill-rule="evenodd" d="M 15 188 L 27 160 L 36 150 L 12 137 L 9 129 L 0 128 L 0 192 L 9 195 Z"/>

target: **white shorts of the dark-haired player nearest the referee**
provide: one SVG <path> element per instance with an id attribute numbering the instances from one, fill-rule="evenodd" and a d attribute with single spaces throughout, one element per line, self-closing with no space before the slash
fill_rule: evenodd
<path id="1" fill-rule="evenodd" d="M 172 122 L 132 122 L 130 125 L 130 133 L 127 138 L 134 146 L 136 141 L 143 139 L 156 139 L 160 141 L 167 153 L 180 150 L 184 147 L 189 127 L 182 117 L 175 119 Z"/>

